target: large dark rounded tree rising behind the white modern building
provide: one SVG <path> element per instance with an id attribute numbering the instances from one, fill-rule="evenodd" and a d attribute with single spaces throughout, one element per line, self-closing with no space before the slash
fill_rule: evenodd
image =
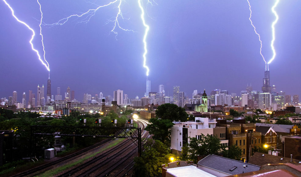
<path id="1" fill-rule="evenodd" d="M 156 110 L 156 116 L 161 119 L 168 119 L 171 122 L 181 120 L 182 122 L 187 121 L 188 114 L 184 108 L 178 107 L 175 104 L 161 104 Z"/>

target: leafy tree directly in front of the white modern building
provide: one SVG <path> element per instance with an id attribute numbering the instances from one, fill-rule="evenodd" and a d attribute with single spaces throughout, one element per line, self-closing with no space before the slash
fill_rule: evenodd
<path id="1" fill-rule="evenodd" d="M 197 162 L 197 156 L 207 156 L 209 154 L 218 154 L 222 152 L 222 144 L 217 136 L 201 135 L 201 139 L 190 138 L 188 145 L 189 159 Z"/>

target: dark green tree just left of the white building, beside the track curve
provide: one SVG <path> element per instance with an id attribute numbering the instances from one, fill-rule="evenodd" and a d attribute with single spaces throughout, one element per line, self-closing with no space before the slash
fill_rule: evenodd
<path id="1" fill-rule="evenodd" d="M 167 140 L 170 135 L 170 128 L 174 126 L 174 123 L 170 120 L 158 118 L 152 118 L 149 122 L 152 124 L 145 127 L 145 130 L 149 131 L 150 134 L 153 134 L 152 138 L 154 140 L 159 140 L 162 143 L 165 143 L 165 140 Z"/>

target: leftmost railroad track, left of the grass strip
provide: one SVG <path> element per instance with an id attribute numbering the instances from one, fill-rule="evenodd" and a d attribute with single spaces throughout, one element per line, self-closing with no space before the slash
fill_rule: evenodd
<path id="1" fill-rule="evenodd" d="M 89 146 L 89 147 L 86 147 L 86 148 L 84 148 L 84 149 L 82 149 L 82 150 L 79 150 L 79 151 L 77 151 L 77 152 L 75 152 L 75 153 L 73 153 L 73 154 L 69 154 L 69 155 L 67 155 L 67 156 L 65 156 L 65 157 L 59 158 L 59 159 L 57 159 L 56 161 L 52 161 L 52 162 L 49 162 L 49 163 L 40 165 L 40 166 L 38 166 L 38 167 L 32 168 L 32 169 L 30 169 L 30 170 L 27 170 L 27 171 L 24 171 L 24 172 L 21 172 L 21 173 L 18 173 L 18 174 L 16 174 L 16 175 L 13 175 L 13 176 L 10 176 L 10 177 L 20 177 L 20 176 L 28 176 L 28 175 L 31 175 L 31 174 L 33 174 L 33 173 L 35 173 L 35 172 L 44 170 L 45 168 L 48 168 L 48 167 L 50 167 L 50 166 L 52 166 L 52 165 L 56 165 L 57 163 L 60 163 L 60 162 L 65 161 L 65 160 L 68 160 L 68 159 L 73 158 L 73 157 L 75 157 L 75 156 L 77 156 L 77 155 L 83 154 L 83 153 L 85 153 L 87 150 L 90 150 L 90 149 L 93 149 L 93 148 L 95 148 L 95 147 L 101 146 L 102 144 L 107 143 L 107 142 L 110 141 L 110 140 L 111 140 L 111 139 L 103 140 L 103 141 L 101 141 L 101 142 L 99 142 L 99 143 L 96 143 L 96 144 L 94 144 L 94 145 L 92 145 L 92 146 Z"/>

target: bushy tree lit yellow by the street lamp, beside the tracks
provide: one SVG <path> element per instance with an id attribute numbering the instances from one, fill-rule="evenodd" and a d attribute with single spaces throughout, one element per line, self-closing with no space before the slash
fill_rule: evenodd
<path id="1" fill-rule="evenodd" d="M 141 157 L 134 158 L 138 176 L 161 176 L 161 165 L 169 163 L 169 158 L 173 154 L 170 154 L 169 148 L 158 140 L 148 140 L 144 149 Z"/>

